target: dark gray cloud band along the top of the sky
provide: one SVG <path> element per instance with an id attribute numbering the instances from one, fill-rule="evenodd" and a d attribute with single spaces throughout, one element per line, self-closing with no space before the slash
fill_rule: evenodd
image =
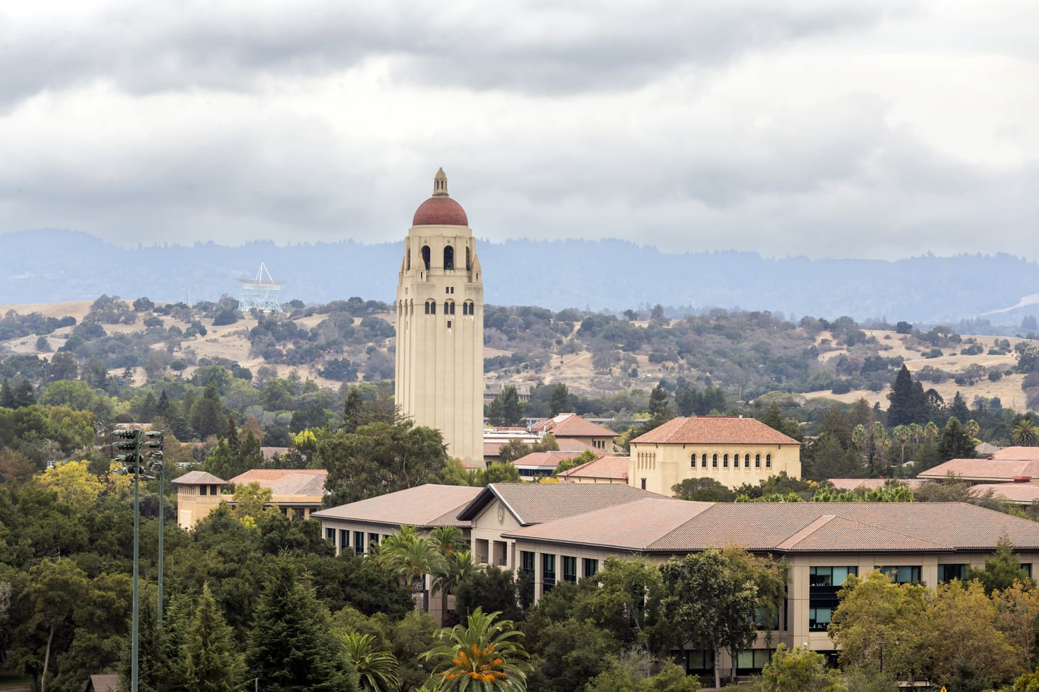
<path id="1" fill-rule="evenodd" d="M 0 24 L 0 99 L 94 80 L 133 92 L 247 90 L 385 58 L 396 79 L 529 93 L 617 90 L 675 68 L 875 25 L 914 3 L 675 0 L 125 3 Z"/>

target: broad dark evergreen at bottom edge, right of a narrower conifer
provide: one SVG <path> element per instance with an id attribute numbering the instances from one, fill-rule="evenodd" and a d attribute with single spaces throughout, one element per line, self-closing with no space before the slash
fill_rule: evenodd
<path id="1" fill-rule="evenodd" d="M 330 620 L 309 577 L 288 559 L 275 560 L 249 631 L 249 675 L 268 692 L 357 690 Z"/>

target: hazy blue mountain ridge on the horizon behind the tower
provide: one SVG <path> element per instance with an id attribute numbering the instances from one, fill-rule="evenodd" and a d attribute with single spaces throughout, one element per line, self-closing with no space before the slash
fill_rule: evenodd
<path id="1" fill-rule="evenodd" d="M 487 303 L 620 311 L 661 303 L 704 309 L 741 307 L 824 317 L 952 322 L 991 313 L 1016 324 L 1039 306 L 1039 265 L 1005 253 L 870 259 L 763 258 L 751 252 L 666 254 L 619 240 L 480 242 Z M 124 299 L 194 302 L 237 297 L 239 278 L 266 262 L 286 282 L 284 301 L 323 303 L 350 296 L 392 301 L 401 241 L 277 247 L 119 248 L 89 233 L 27 230 L 0 234 L 0 304 Z"/>

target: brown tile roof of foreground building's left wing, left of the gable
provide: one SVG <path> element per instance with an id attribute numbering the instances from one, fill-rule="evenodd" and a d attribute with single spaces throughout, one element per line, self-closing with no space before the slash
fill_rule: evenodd
<path id="1" fill-rule="evenodd" d="M 457 519 L 458 513 L 481 490 L 468 486 L 429 483 L 321 509 L 311 516 L 323 519 L 354 519 L 391 526 L 414 524 L 420 527 L 468 527 L 470 525 L 468 521 Z"/>

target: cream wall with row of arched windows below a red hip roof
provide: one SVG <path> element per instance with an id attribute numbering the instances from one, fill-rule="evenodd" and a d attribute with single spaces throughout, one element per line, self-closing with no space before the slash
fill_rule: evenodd
<path id="1" fill-rule="evenodd" d="M 779 475 L 785 471 L 793 478 L 801 477 L 801 446 L 797 444 L 638 444 L 632 443 L 631 456 L 628 463 L 628 483 L 635 488 L 642 487 L 645 478 L 645 489 L 661 495 L 672 495 L 671 487 L 686 478 L 714 478 L 727 488 L 739 488 L 743 483 L 757 485 L 769 476 Z M 696 465 L 691 464 L 691 458 L 696 454 Z M 702 466 L 702 456 L 708 455 L 708 465 Z M 718 455 L 718 466 L 715 467 L 714 455 Z M 724 466 L 725 454 L 728 454 L 728 466 Z M 739 454 L 740 466 L 736 467 L 735 458 Z M 750 455 L 749 465 L 746 463 Z M 761 466 L 757 466 L 757 455 L 761 454 Z M 771 466 L 768 458 L 771 454 Z"/>

